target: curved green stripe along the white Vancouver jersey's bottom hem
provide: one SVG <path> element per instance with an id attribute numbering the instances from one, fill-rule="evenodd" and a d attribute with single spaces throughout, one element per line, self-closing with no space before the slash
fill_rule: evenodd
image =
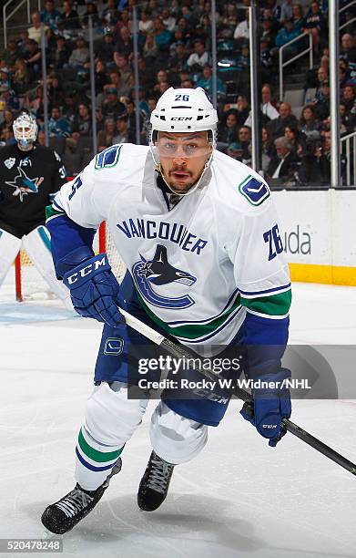
<path id="1" fill-rule="evenodd" d="M 235 302 L 229 308 L 229 310 L 213 318 L 207 324 L 168 325 L 163 322 L 163 320 L 161 320 L 158 315 L 154 314 L 150 308 L 148 308 L 138 291 L 137 295 L 139 297 L 141 305 L 143 305 L 143 307 L 145 308 L 147 315 L 153 322 L 155 322 L 155 324 L 161 327 L 163 331 L 166 331 L 170 336 L 187 340 L 198 339 L 199 337 L 207 336 L 210 333 L 213 333 L 216 329 L 219 329 L 220 325 L 223 325 L 224 322 L 229 318 L 229 316 L 240 306 L 240 297 L 239 294 L 237 294 Z"/>

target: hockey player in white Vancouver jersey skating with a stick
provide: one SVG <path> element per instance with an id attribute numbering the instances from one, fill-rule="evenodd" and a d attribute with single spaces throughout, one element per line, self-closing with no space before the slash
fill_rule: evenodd
<path id="1" fill-rule="evenodd" d="M 97 387 L 76 445 L 76 487 L 42 515 L 55 533 L 69 531 L 97 504 L 147 407 L 147 399 L 127 398 L 127 371 L 138 366 L 146 341 L 127 327 L 117 304 L 197 351 L 227 346 L 223 355 L 244 343 L 245 373 L 275 384 L 253 391 L 243 417 L 271 446 L 283 434 L 281 418 L 290 417 L 290 394 L 281 388 L 290 371 L 280 364 L 290 276 L 269 187 L 215 150 L 218 117 L 203 89 L 168 89 L 150 121 L 149 147 L 102 151 L 62 187 L 49 211 L 56 273 L 76 311 L 105 323 Z M 91 249 L 103 220 L 127 265 L 121 285 L 106 255 Z M 142 510 L 165 500 L 174 467 L 204 448 L 208 427 L 219 425 L 227 406 L 226 400 L 172 393 L 159 402 L 151 418 L 153 451 L 138 489 Z"/>

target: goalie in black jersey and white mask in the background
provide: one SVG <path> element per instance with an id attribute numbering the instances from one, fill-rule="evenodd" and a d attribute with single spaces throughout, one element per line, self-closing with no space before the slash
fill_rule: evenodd
<path id="1" fill-rule="evenodd" d="M 45 227 L 46 205 L 66 182 L 54 150 L 36 144 L 36 119 L 22 112 L 13 124 L 16 144 L 0 150 L 0 285 L 23 246 L 50 289 L 71 307 L 66 286 L 56 279 Z"/>

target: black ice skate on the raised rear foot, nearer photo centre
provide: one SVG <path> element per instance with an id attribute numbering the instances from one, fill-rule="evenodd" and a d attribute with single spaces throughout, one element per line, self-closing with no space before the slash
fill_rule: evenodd
<path id="1" fill-rule="evenodd" d="M 138 487 L 137 503 L 141 510 L 157 510 L 166 500 L 174 467 L 152 451 Z"/>

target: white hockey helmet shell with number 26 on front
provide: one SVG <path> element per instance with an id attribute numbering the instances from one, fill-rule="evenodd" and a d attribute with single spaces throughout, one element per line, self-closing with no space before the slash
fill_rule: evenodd
<path id="1" fill-rule="evenodd" d="M 218 113 L 203 88 L 169 88 L 158 99 L 149 121 L 149 146 L 156 164 L 159 164 L 155 147 L 159 131 L 174 133 L 207 130 L 209 143 L 213 148 L 216 146 Z"/>

